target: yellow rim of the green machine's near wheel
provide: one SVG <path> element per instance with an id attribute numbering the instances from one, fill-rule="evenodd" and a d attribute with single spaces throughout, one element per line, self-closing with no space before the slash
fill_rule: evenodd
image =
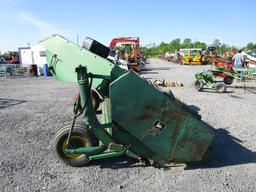
<path id="1" fill-rule="evenodd" d="M 68 139 L 68 138 L 67 138 Z M 66 149 L 67 149 L 67 139 L 65 139 L 65 141 L 62 144 L 62 151 L 64 153 L 64 155 L 70 159 L 79 159 L 81 157 L 84 156 L 84 154 L 69 154 L 66 153 Z M 79 148 L 79 147 L 88 147 L 90 146 L 90 143 L 88 141 L 88 139 L 86 137 L 82 137 L 79 135 L 72 135 L 70 137 L 70 142 L 69 142 L 73 147 L 75 148 Z"/>

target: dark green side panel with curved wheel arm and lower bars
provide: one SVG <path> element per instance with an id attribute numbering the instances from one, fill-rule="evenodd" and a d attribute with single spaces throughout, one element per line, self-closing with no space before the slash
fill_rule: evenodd
<path id="1" fill-rule="evenodd" d="M 105 103 L 101 124 L 92 107 L 89 79 L 106 77 L 88 74 L 83 66 L 76 68 L 76 72 L 82 105 L 85 105 L 84 120 L 103 146 L 67 149 L 68 153 L 86 154 L 91 160 L 126 153 L 134 158 L 151 159 L 159 165 L 202 160 L 214 133 L 173 95 L 160 92 L 134 72 L 128 72 L 111 83 L 111 102 Z M 125 86 L 127 82 L 133 86 Z M 135 93 L 138 89 L 148 94 Z M 119 96 L 120 91 L 123 97 Z M 152 98 L 155 98 L 154 103 Z M 157 131 L 155 122 L 165 124 L 156 135 L 152 133 L 152 130 Z M 105 152 L 106 149 L 110 151 Z"/>

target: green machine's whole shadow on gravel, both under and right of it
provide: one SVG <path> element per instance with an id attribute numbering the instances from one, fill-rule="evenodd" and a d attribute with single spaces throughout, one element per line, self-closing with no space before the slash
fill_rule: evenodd
<path id="1" fill-rule="evenodd" d="M 215 130 L 215 139 L 212 143 L 212 155 L 208 162 L 200 162 L 187 165 L 184 169 L 210 169 L 233 165 L 242 165 L 248 163 L 256 163 L 256 152 L 253 152 L 242 146 L 242 140 L 233 137 L 225 129 Z M 87 166 L 99 166 L 100 168 L 122 169 L 147 167 L 148 165 L 139 162 L 136 159 L 121 156 L 111 159 L 102 159 L 91 161 Z"/>

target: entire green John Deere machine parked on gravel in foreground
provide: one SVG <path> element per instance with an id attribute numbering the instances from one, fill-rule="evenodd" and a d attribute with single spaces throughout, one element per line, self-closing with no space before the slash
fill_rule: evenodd
<path id="1" fill-rule="evenodd" d="M 124 154 L 156 165 L 203 159 L 214 132 L 173 94 L 105 59 L 102 52 L 107 51 L 94 40 L 81 48 L 53 35 L 41 44 L 55 78 L 77 82 L 80 90 L 72 122 L 53 141 L 60 161 L 84 166 Z M 102 97 L 101 122 L 93 108 L 92 89 Z M 76 122 L 79 115 L 84 123 Z"/>

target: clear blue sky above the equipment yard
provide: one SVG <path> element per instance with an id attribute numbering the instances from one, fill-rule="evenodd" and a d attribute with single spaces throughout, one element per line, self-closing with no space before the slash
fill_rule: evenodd
<path id="1" fill-rule="evenodd" d="M 142 45 L 191 38 L 210 44 L 256 43 L 255 0 L 0 0 L 0 50 L 17 50 L 58 33 L 79 43 L 90 36 L 139 36 Z"/>

